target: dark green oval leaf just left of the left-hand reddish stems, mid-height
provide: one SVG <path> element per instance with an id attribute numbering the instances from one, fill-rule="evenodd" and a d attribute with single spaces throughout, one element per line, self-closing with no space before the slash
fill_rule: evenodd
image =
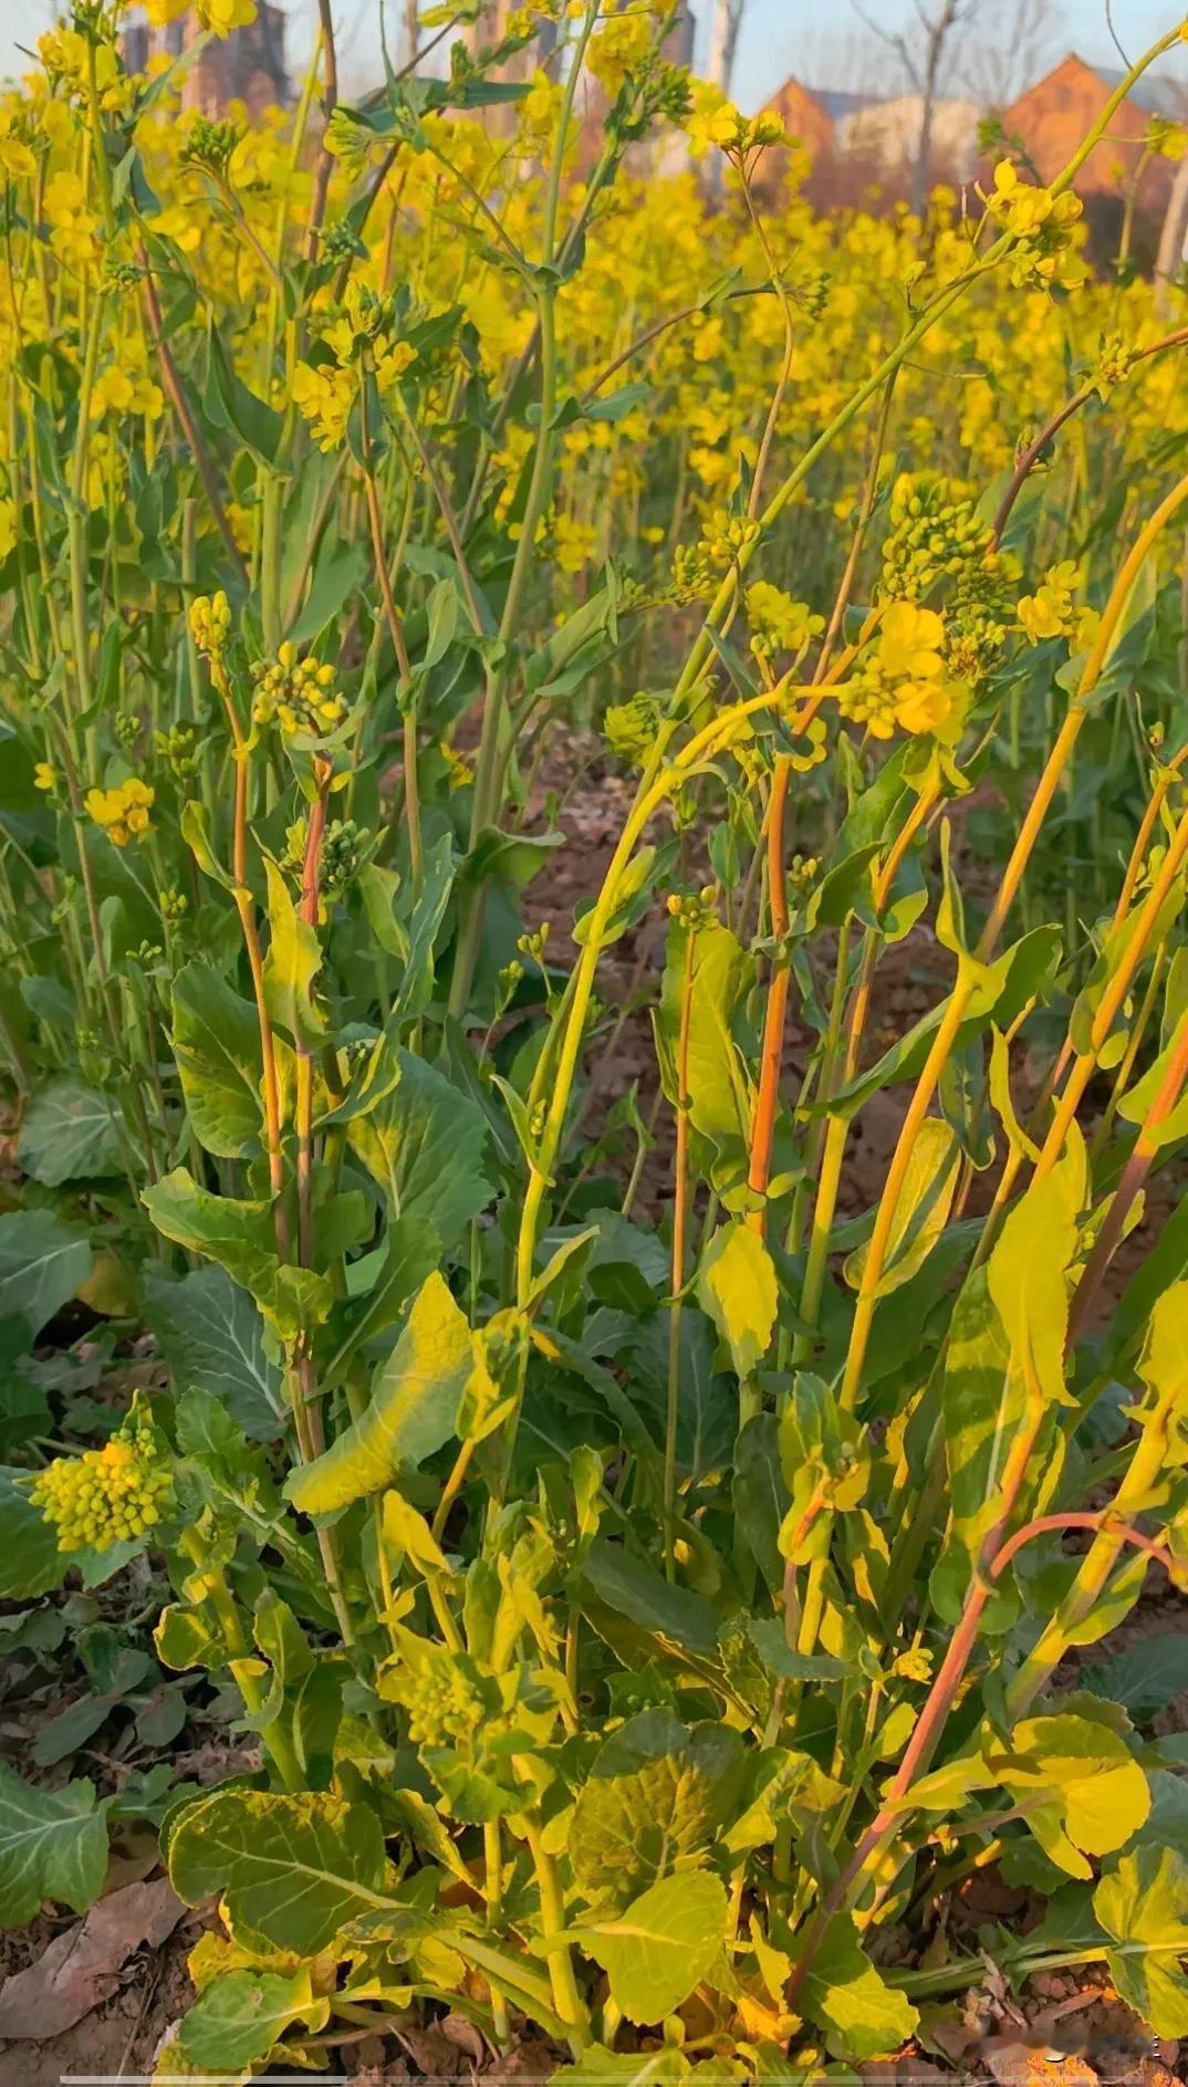
<path id="1" fill-rule="evenodd" d="M 173 1058 L 198 1144 L 217 1158 L 253 1158 L 263 1131 L 259 1014 L 213 964 L 184 964 L 173 979 Z"/>

